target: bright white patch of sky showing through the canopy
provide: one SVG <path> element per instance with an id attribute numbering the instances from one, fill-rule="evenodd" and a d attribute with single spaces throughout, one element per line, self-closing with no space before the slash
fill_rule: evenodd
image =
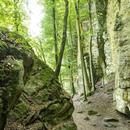
<path id="1" fill-rule="evenodd" d="M 43 8 L 38 0 L 28 0 L 27 14 L 29 16 L 29 33 L 32 37 L 40 36 Z"/>

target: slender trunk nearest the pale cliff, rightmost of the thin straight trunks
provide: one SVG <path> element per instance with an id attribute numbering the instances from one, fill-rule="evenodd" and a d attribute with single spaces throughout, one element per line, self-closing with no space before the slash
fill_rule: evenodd
<path id="1" fill-rule="evenodd" d="M 90 42 L 89 42 L 89 65 L 90 65 L 90 77 L 91 77 L 91 91 L 95 90 L 94 77 L 93 77 L 93 56 L 92 56 L 92 35 L 93 35 L 93 27 L 92 27 L 92 14 L 91 14 L 91 0 L 88 1 L 89 7 L 89 21 L 90 21 Z"/>

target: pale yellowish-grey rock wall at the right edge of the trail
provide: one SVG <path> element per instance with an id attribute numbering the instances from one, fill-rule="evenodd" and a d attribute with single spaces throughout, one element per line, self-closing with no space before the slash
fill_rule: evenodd
<path id="1" fill-rule="evenodd" d="M 130 1 L 108 1 L 107 30 L 115 65 L 116 109 L 130 114 Z"/>

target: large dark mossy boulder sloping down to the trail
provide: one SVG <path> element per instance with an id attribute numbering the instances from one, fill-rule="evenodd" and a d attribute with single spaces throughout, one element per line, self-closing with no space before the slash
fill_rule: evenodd
<path id="1" fill-rule="evenodd" d="M 76 130 L 74 107 L 28 43 L 0 29 L 0 130 Z"/>

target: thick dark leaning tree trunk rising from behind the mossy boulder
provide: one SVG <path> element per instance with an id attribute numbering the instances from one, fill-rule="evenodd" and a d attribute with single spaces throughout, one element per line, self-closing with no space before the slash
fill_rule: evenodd
<path id="1" fill-rule="evenodd" d="M 63 27 L 62 43 L 61 43 L 58 63 L 57 63 L 56 70 L 55 70 L 56 77 L 59 76 L 59 73 L 61 70 L 61 64 L 62 64 L 63 54 L 64 54 L 64 50 L 65 50 L 66 37 L 67 37 L 67 21 L 68 21 L 68 13 L 69 13 L 69 6 L 68 6 L 69 2 L 68 2 L 68 0 L 64 0 L 64 1 L 65 1 L 64 27 Z"/>

